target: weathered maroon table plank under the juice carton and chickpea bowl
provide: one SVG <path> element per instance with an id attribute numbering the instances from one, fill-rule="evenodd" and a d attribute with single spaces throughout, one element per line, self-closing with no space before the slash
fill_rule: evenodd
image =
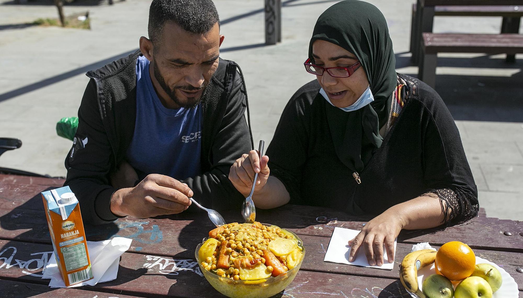
<path id="1" fill-rule="evenodd" d="M 20 282 L 47 284 L 40 279 L 41 268 L 50 256 L 51 246 L 24 242 L 1 241 L 3 247 L 17 247 L 13 257 L 2 256 L 0 278 Z M 10 249 L 13 252 L 13 249 Z M 33 255 L 31 255 L 33 254 Z M 4 259 L 5 258 L 5 259 Z M 16 259 L 16 261 L 15 261 Z M 7 261 L 8 260 L 8 261 Z M 137 295 L 147 297 L 221 297 L 201 276 L 197 264 L 190 259 L 155 257 L 143 254 L 124 253 L 120 260 L 118 278 L 95 287 L 81 287 L 82 290 Z M 324 272 L 300 271 L 289 285 L 285 297 L 323 297 L 333 293 L 348 297 L 380 292 L 394 297 L 407 297 L 406 292 L 394 279 L 338 275 Z M 365 297 L 365 296 L 363 296 Z"/>

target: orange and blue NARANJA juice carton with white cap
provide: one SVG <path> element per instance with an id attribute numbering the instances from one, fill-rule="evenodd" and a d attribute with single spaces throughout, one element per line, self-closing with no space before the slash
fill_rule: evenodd
<path id="1" fill-rule="evenodd" d="M 66 186 L 42 192 L 56 264 L 66 287 L 93 278 L 80 205 Z"/>

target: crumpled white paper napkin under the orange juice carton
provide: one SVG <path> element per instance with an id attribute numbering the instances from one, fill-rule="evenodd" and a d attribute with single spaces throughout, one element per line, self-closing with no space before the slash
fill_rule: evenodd
<path id="1" fill-rule="evenodd" d="M 116 279 L 120 256 L 131 246 L 132 239 L 115 237 L 104 241 L 87 241 L 87 251 L 91 260 L 93 279 L 70 285 L 69 288 L 81 287 L 82 285 L 95 285 L 98 282 L 106 282 Z M 56 258 L 52 253 L 49 263 L 43 269 L 42 278 L 51 279 L 49 287 L 65 288 L 60 269 L 56 265 Z"/>

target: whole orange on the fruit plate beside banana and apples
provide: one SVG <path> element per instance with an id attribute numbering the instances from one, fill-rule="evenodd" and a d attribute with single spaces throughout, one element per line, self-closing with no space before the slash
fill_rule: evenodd
<path id="1" fill-rule="evenodd" d="M 451 241 L 443 244 L 436 253 L 436 273 L 458 281 L 472 275 L 476 265 L 476 256 L 469 245 Z"/>

